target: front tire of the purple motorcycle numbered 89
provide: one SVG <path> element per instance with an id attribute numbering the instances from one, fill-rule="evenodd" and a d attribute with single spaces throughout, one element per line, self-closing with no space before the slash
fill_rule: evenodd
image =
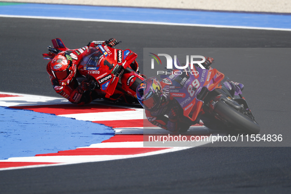
<path id="1" fill-rule="evenodd" d="M 227 126 L 230 125 L 244 133 L 258 134 L 260 131 L 259 124 L 255 120 L 228 106 L 221 100 L 216 103 L 213 112 L 218 114 L 218 118 L 222 117 Z"/>

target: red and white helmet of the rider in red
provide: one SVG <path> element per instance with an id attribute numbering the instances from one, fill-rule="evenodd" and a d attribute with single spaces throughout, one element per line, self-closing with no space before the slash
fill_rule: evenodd
<path id="1" fill-rule="evenodd" d="M 71 56 L 63 51 L 52 59 L 51 69 L 54 77 L 59 80 L 60 84 L 67 85 L 75 76 L 77 68 L 73 64 Z"/>

